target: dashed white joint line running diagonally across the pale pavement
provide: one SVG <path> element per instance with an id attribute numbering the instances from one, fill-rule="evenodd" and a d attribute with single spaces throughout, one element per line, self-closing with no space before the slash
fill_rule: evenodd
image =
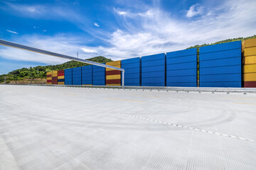
<path id="1" fill-rule="evenodd" d="M 256 140 L 251 140 L 251 139 L 247 139 L 245 137 L 238 137 L 238 136 L 235 136 L 235 135 L 227 135 L 225 133 L 219 133 L 219 132 L 213 132 L 213 131 L 210 131 L 210 130 L 203 130 L 203 129 L 198 129 L 198 128 L 193 128 L 193 127 L 188 127 L 188 126 L 185 126 L 185 125 L 177 125 L 177 124 L 174 124 L 174 123 L 166 123 L 166 122 L 161 122 L 159 120 L 153 120 L 153 119 L 149 119 L 149 118 L 143 118 L 141 116 L 135 116 L 135 115 L 128 115 L 128 114 L 125 114 L 125 113 L 117 113 L 117 112 L 113 112 L 113 111 L 108 111 L 110 113 L 116 113 L 118 115 L 127 115 L 129 117 L 133 117 L 133 118 L 139 118 L 139 119 L 143 119 L 143 120 L 149 120 L 149 121 L 153 121 L 153 122 L 156 122 L 156 123 L 159 123 L 159 124 L 164 124 L 164 125 L 171 125 L 171 126 L 175 126 L 175 127 L 178 127 L 178 128 L 183 128 L 183 129 L 188 129 L 188 130 L 196 130 L 196 131 L 201 131 L 201 132 L 206 132 L 206 133 L 210 133 L 210 134 L 213 134 L 213 135 L 218 135 L 218 136 L 224 136 L 224 137 L 230 137 L 230 138 L 233 138 L 233 139 L 237 139 L 237 140 L 243 140 L 243 141 L 249 141 L 249 142 L 254 142 L 256 143 Z"/>

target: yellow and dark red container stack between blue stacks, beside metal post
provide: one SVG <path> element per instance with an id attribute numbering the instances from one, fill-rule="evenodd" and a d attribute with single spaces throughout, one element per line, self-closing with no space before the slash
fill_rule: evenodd
<path id="1" fill-rule="evenodd" d="M 121 61 L 106 62 L 106 65 L 121 68 Z M 106 85 L 121 86 L 121 71 L 116 69 L 106 68 Z"/>

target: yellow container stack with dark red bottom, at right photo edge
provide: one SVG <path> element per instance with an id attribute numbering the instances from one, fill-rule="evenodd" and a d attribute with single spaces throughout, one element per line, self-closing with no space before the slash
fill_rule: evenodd
<path id="1" fill-rule="evenodd" d="M 256 38 L 242 42 L 243 85 L 256 87 Z"/>

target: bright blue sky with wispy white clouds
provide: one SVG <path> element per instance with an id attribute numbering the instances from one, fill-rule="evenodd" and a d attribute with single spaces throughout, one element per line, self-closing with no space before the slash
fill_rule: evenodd
<path id="1" fill-rule="evenodd" d="M 87 59 L 183 50 L 256 34 L 255 0 L 0 0 L 0 39 Z M 0 47 L 0 74 L 66 60 Z"/>

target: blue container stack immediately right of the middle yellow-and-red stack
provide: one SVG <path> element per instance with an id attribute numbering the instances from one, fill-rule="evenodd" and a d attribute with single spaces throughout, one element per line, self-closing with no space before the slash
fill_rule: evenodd
<path id="1" fill-rule="evenodd" d="M 141 85 L 141 59 L 140 57 L 122 60 L 122 69 L 124 72 L 125 86 L 140 86 Z"/>

